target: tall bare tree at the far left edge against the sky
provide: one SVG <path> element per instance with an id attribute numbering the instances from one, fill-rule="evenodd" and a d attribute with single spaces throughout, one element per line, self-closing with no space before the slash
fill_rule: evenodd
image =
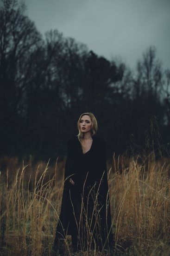
<path id="1" fill-rule="evenodd" d="M 23 92 L 32 77 L 32 57 L 41 42 L 34 23 L 16 0 L 1 0 L 0 7 L 0 110 L 3 121 L 19 111 Z M 4 111 L 5 108 L 5 111 Z"/>

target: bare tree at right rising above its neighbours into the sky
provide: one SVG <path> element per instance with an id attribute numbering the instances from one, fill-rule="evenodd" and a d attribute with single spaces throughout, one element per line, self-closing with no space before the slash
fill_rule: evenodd
<path id="1" fill-rule="evenodd" d="M 144 141 L 145 129 L 152 115 L 157 116 L 159 125 L 163 125 L 162 83 L 162 64 L 157 59 L 156 47 L 151 46 L 137 62 L 132 90 L 134 134 L 139 144 Z"/>

